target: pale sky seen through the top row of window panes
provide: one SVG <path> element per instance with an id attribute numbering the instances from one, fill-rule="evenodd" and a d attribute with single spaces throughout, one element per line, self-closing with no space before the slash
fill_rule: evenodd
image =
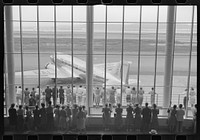
<path id="1" fill-rule="evenodd" d="M 70 21 L 72 6 L 57 6 L 56 20 Z M 142 22 L 156 22 L 158 6 L 142 6 Z M 197 12 L 195 7 L 195 21 L 197 19 Z M 122 22 L 122 6 L 108 6 L 108 21 Z M 74 21 L 86 21 L 86 6 L 74 6 Z M 178 6 L 177 7 L 177 22 L 191 22 L 192 6 Z M 19 6 L 13 6 L 13 19 L 19 20 Z M 37 6 L 22 6 L 22 20 L 36 21 L 37 20 Z M 54 21 L 54 6 L 39 6 L 39 20 L 40 21 Z M 140 6 L 125 6 L 125 22 L 139 22 L 140 20 Z M 167 6 L 160 6 L 159 22 L 166 22 L 167 20 Z M 105 21 L 105 6 L 94 6 L 94 21 Z"/>

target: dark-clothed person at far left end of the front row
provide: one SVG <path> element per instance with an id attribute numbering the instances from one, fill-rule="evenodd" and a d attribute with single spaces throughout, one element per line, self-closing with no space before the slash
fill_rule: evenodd
<path id="1" fill-rule="evenodd" d="M 11 130 L 16 130 L 16 126 L 17 126 L 17 111 L 15 109 L 15 104 L 11 104 L 11 107 L 8 110 L 8 114 L 9 114 L 9 125 Z"/>

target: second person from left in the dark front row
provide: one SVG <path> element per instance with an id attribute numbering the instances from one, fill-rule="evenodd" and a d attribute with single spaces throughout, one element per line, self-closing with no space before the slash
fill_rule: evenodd
<path id="1" fill-rule="evenodd" d="M 17 110 L 17 130 L 23 131 L 24 127 L 24 110 L 22 105 L 19 105 L 19 109 Z"/>

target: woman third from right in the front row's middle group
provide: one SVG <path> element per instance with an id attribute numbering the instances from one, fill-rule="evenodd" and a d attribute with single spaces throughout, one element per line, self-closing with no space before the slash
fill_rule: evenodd
<path id="1" fill-rule="evenodd" d="M 136 108 L 134 109 L 134 113 L 135 113 L 135 130 L 137 132 L 139 132 L 141 130 L 141 124 L 142 124 L 142 117 L 141 117 L 141 108 L 139 107 L 138 104 L 135 105 Z"/>

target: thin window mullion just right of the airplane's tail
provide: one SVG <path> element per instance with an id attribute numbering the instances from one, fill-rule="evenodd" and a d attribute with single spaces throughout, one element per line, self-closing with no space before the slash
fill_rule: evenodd
<path id="1" fill-rule="evenodd" d="M 141 48 L 141 26 L 142 26 L 142 6 L 140 6 L 140 27 L 139 27 L 139 49 L 138 49 L 138 75 L 137 75 L 137 91 L 139 91 L 140 80 L 140 48 Z M 138 95 L 138 93 L 137 93 Z M 138 96 L 137 96 L 138 97 Z"/>

